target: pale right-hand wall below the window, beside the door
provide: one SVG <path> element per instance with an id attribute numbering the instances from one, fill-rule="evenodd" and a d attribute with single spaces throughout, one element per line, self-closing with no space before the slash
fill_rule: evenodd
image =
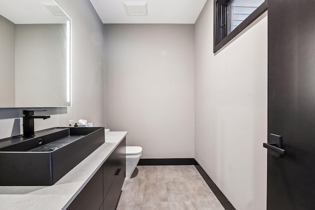
<path id="1" fill-rule="evenodd" d="M 265 210 L 266 13 L 214 55 L 213 10 L 195 24 L 195 159 L 237 210 Z"/>

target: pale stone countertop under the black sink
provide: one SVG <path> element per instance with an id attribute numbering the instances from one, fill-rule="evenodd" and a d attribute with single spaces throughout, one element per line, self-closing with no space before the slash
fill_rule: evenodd
<path id="1" fill-rule="evenodd" d="M 0 186 L 2 210 L 65 210 L 127 132 L 105 132 L 105 143 L 51 186 Z"/>

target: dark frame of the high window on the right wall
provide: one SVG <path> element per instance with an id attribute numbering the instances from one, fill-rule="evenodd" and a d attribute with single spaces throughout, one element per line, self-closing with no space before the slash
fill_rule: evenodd
<path id="1" fill-rule="evenodd" d="M 268 0 L 255 9 L 238 27 L 226 35 L 227 31 L 227 4 L 233 0 L 214 0 L 214 42 L 213 53 L 218 52 L 224 45 L 231 41 L 242 30 L 246 29 L 260 15 L 267 11 Z M 224 26 L 224 28 L 222 28 Z M 219 41 L 220 40 L 220 41 Z M 219 42 L 218 42 L 219 41 Z"/>

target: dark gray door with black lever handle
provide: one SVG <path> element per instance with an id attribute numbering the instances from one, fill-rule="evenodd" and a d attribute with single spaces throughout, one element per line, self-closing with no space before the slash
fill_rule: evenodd
<path id="1" fill-rule="evenodd" d="M 268 143 L 267 209 L 315 210 L 315 0 L 268 0 Z"/>

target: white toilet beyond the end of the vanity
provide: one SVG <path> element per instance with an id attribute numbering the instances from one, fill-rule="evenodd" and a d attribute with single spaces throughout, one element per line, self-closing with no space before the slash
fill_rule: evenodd
<path id="1" fill-rule="evenodd" d="M 137 146 L 126 147 L 126 178 L 130 179 L 134 169 L 136 168 L 142 153 L 142 148 Z"/>

